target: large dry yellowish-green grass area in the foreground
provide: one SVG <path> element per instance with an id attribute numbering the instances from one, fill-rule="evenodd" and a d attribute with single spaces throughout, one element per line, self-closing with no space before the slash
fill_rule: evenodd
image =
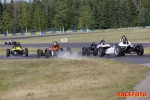
<path id="1" fill-rule="evenodd" d="M 0 100 L 120 100 L 116 92 L 133 90 L 150 71 L 141 65 L 105 59 L 0 63 Z"/>

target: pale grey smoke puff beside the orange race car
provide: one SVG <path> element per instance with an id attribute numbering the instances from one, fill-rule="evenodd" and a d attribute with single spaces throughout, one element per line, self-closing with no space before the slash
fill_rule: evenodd
<path id="1" fill-rule="evenodd" d="M 85 58 L 79 52 L 60 52 L 58 53 L 58 58 L 68 58 L 68 59 L 78 59 L 78 58 Z"/>

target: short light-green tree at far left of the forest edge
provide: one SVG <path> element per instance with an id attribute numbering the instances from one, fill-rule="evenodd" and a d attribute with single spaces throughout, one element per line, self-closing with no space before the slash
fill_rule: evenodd
<path id="1" fill-rule="evenodd" d="M 2 29 L 4 31 L 11 31 L 12 29 L 12 19 L 10 17 L 10 14 L 6 11 L 3 12 L 3 15 L 2 15 Z"/>

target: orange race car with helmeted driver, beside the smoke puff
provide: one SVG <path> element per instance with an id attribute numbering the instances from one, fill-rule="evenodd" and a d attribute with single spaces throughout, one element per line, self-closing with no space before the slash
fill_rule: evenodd
<path id="1" fill-rule="evenodd" d="M 45 56 L 45 58 L 49 58 L 50 56 L 57 56 L 58 54 L 63 53 L 63 48 L 57 43 L 57 41 L 54 41 L 52 46 L 45 49 L 45 52 L 43 50 L 38 49 L 37 50 L 37 56 L 40 58 L 41 56 Z M 66 48 L 66 52 L 71 54 L 70 47 Z"/>

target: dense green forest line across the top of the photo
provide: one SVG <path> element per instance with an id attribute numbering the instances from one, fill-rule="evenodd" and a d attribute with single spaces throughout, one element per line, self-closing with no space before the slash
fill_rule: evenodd
<path id="1" fill-rule="evenodd" d="M 5 1 L 5 0 L 4 0 Z M 4 32 L 108 29 L 150 25 L 150 0 L 11 0 L 0 2 Z"/>

